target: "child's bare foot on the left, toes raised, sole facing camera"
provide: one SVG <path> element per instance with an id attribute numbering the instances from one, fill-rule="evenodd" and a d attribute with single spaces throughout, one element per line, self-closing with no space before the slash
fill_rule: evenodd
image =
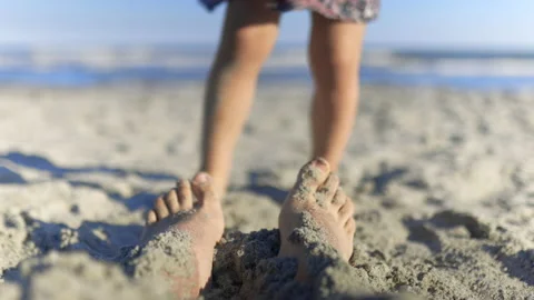
<path id="1" fill-rule="evenodd" d="M 156 200 L 154 209 L 148 212 L 141 240 L 148 242 L 155 234 L 168 230 L 179 230 L 190 236 L 196 276 L 176 281 L 187 281 L 184 286 L 194 287 L 192 291 L 178 291 L 181 296 L 196 297 L 211 276 L 214 248 L 222 237 L 224 228 L 222 209 L 211 178 L 200 172 L 192 182 L 182 180 L 177 188 Z"/>

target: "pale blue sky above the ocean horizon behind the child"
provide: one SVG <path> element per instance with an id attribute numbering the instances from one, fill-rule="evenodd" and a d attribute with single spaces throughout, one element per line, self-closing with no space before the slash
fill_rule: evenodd
<path id="1" fill-rule="evenodd" d="M 382 2 L 368 44 L 534 49 L 534 0 Z M 0 0 L 0 44 L 216 43 L 222 17 L 197 0 Z M 280 42 L 304 44 L 308 17 L 285 14 Z"/>

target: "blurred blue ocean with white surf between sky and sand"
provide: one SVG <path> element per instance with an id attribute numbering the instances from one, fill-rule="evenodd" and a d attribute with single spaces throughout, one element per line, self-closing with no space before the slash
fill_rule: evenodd
<path id="1" fill-rule="evenodd" d="M 0 47 L 0 84 L 86 87 L 130 82 L 180 83 L 206 79 L 210 46 L 28 48 Z M 307 82 L 306 49 L 278 47 L 260 83 Z M 363 83 L 457 89 L 534 88 L 534 51 L 369 47 Z"/>

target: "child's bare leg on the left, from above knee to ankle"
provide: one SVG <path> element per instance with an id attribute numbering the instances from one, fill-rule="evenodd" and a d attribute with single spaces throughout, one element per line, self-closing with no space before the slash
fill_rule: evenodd
<path id="1" fill-rule="evenodd" d="M 266 0 L 229 1 L 222 37 L 207 83 L 201 170 L 226 189 L 234 148 L 248 118 L 256 81 L 278 36 L 280 13 Z"/>

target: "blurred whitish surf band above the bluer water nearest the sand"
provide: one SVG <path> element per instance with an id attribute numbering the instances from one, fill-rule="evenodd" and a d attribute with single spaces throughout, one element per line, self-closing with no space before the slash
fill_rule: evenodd
<path id="1" fill-rule="evenodd" d="M 96 70 L 119 68 L 208 68 L 212 51 L 181 49 L 91 48 L 91 49 L 30 49 L 1 51 L 0 69 L 28 68 L 46 71 L 65 66 Z M 288 49 L 276 52 L 266 63 L 268 69 L 306 68 L 305 49 Z M 439 74 L 449 77 L 534 77 L 534 59 L 418 59 L 403 57 L 390 50 L 368 50 L 363 56 L 363 66 L 393 73 Z"/>

